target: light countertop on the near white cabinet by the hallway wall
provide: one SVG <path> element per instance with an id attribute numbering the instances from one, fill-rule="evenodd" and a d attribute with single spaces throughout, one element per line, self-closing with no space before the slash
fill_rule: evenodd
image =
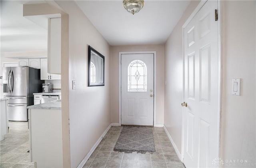
<path id="1" fill-rule="evenodd" d="M 61 110 L 61 100 L 55 100 L 52 102 L 36 104 L 28 106 L 28 109 L 51 109 L 51 110 Z"/>

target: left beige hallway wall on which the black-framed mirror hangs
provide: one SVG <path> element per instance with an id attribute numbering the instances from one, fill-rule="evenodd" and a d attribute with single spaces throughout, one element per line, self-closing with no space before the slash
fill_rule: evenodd
<path id="1" fill-rule="evenodd" d="M 56 3 L 68 14 L 68 59 L 62 59 L 68 74 L 62 74 L 62 83 L 65 76 L 68 80 L 62 96 L 68 86 L 69 99 L 62 106 L 69 104 L 70 166 L 77 167 L 110 125 L 110 46 L 73 1 Z M 105 86 L 87 86 L 88 45 L 105 56 Z"/>

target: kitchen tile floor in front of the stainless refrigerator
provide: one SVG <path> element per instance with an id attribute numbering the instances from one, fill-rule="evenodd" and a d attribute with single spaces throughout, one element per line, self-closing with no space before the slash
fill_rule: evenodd
<path id="1" fill-rule="evenodd" d="M 34 168 L 30 162 L 28 122 L 9 121 L 9 133 L 0 141 L 0 168 Z"/>

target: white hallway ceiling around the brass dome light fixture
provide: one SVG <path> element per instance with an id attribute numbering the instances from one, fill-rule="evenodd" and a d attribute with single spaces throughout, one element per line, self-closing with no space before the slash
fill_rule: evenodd
<path id="1" fill-rule="evenodd" d="M 145 0 L 128 13 L 122 0 L 77 0 L 92 24 L 112 46 L 164 44 L 188 6 L 188 0 Z"/>

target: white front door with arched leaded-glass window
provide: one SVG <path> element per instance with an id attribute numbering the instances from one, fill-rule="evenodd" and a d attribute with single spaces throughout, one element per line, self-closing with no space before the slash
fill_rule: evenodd
<path id="1" fill-rule="evenodd" d="M 154 54 L 121 54 L 123 125 L 153 126 Z"/>

